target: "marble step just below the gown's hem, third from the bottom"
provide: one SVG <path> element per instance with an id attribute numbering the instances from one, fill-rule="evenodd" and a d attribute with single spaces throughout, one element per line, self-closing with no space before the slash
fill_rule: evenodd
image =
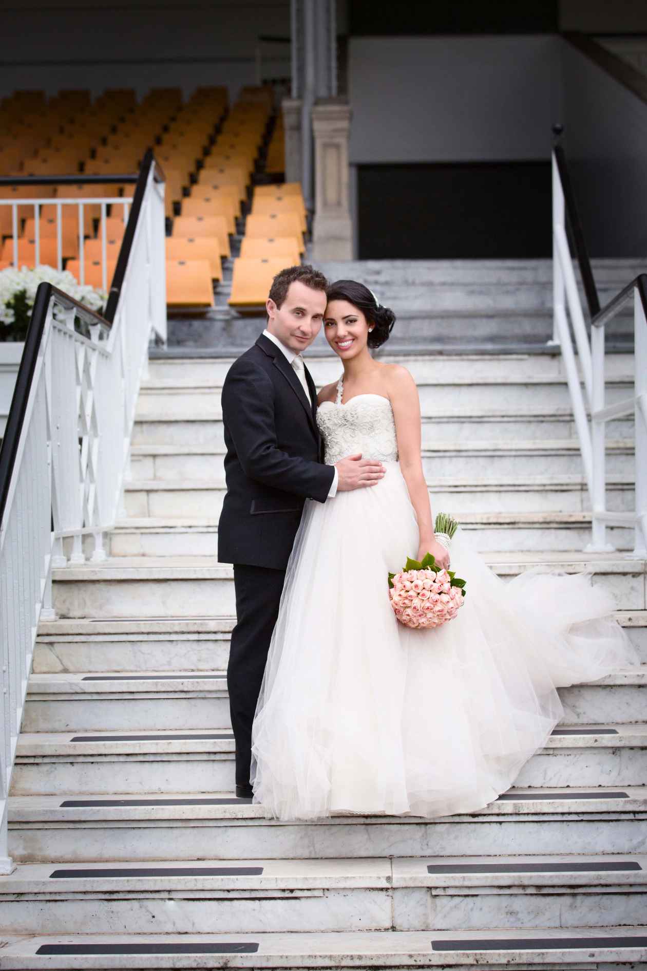
<path id="1" fill-rule="evenodd" d="M 644 853 L 647 787 L 513 787 L 473 813 L 276 822 L 231 790 L 10 796 L 16 862 Z M 2 952 L 0 951 L 0 955 Z"/>

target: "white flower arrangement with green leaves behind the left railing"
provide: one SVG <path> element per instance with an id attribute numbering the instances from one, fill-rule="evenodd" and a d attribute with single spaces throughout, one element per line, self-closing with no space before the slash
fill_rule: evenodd
<path id="1" fill-rule="evenodd" d="M 93 286 L 81 286 L 67 270 L 51 266 L 0 270 L 0 341 L 24 340 L 39 284 L 57 286 L 90 310 L 101 311 L 107 294 Z"/>

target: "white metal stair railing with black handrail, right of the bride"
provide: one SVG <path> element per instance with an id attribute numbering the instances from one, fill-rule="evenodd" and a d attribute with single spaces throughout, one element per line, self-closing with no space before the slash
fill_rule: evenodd
<path id="1" fill-rule="evenodd" d="M 633 301 L 633 394 L 605 405 L 605 325 Z M 592 505 L 592 539 L 587 552 L 614 550 L 607 525 L 634 529 L 631 555 L 647 556 L 647 275 L 641 274 L 591 320 L 587 330 L 566 237 L 566 201 L 553 152 L 553 343 L 560 344 L 573 418 Z M 572 336 L 571 336 L 572 330 Z M 574 344 L 573 344 L 574 337 Z M 577 350 L 577 357 L 575 356 Z M 578 368 L 579 360 L 579 368 Z M 606 422 L 633 417 L 635 509 L 609 510 L 606 500 Z"/>

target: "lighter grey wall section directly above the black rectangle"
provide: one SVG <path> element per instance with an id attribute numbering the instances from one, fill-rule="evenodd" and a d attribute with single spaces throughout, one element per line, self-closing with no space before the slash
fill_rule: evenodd
<path id="1" fill-rule="evenodd" d="M 351 162 L 546 157 L 559 49 L 552 35 L 351 38 Z"/>

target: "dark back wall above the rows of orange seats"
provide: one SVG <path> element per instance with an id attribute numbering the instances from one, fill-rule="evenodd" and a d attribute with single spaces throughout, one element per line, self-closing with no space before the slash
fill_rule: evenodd
<path id="1" fill-rule="evenodd" d="M 38 0 L 0 9 L 0 96 L 15 88 L 255 84 L 259 35 L 289 36 L 289 0 L 181 3 Z M 270 49 L 272 75 L 290 73 L 289 49 Z M 267 76 L 267 75 L 266 75 Z"/>

